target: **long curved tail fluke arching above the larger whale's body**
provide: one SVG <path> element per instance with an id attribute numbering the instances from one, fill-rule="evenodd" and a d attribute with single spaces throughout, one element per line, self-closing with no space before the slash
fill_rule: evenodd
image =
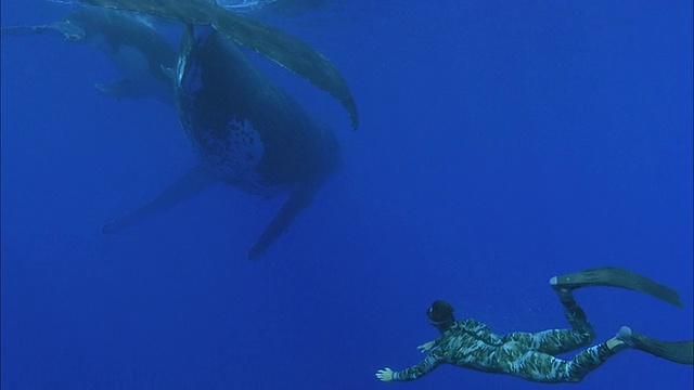
<path id="1" fill-rule="evenodd" d="M 213 25 L 227 38 L 255 50 L 329 92 L 359 126 L 357 104 L 347 81 L 335 65 L 310 44 L 282 30 L 201 0 L 81 0 L 112 9 L 144 12 L 187 24 Z"/>

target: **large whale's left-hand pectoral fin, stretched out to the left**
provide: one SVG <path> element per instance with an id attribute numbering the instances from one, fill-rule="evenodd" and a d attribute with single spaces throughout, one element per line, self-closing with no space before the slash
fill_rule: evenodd
<path id="1" fill-rule="evenodd" d="M 105 234 L 118 233 L 126 227 L 172 208 L 182 200 L 201 193 L 217 181 L 217 178 L 198 164 L 164 190 L 154 200 L 129 214 L 104 224 L 101 226 L 101 232 Z"/>

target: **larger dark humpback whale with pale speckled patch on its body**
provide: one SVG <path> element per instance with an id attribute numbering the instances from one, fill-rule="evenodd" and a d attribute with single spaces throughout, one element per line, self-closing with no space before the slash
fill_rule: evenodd
<path id="1" fill-rule="evenodd" d="M 147 6 L 155 2 L 140 1 L 139 4 Z M 117 5 L 118 1 L 108 0 L 108 3 Z M 185 21 L 209 17 L 207 14 L 185 15 Z M 257 22 L 243 20 L 243 23 L 255 26 L 254 29 L 262 27 Z M 265 27 L 260 30 L 259 37 L 265 40 L 254 41 L 258 38 L 252 39 L 243 29 L 234 32 L 239 39 L 231 40 L 228 34 L 209 24 L 187 24 L 178 54 L 175 99 L 180 122 L 200 162 L 151 203 L 102 226 L 104 233 L 116 233 L 168 210 L 221 181 L 264 197 L 287 195 L 284 205 L 248 250 L 248 258 L 257 259 L 339 167 L 340 148 L 330 127 L 265 76 L 237 43 L 242 40 L 262 51 L 278 41 L 294 42 L 296 47 L 298 40 L 287 40 L 287 36 L 279 30 Z M 351 102 L 354 105 L 349 90 L 347 95 L 342 90 L 346 84 L 339 84 L 344 80 L 338 73 L 338 81 L 342 81 L 334 82 L 336 68 L 320 53 L 299 42 L 301 50 L 298 53 L 285 52 L 288 49 L 285 48 L 280 54 L 273 54 L 275 60 L 287 60 L 291 65 L 284 64 L 285 67 L 298 68 L 313 83 L 321 82 L 329 92 L 347 99 L 340 100 L 343 104 Z M 307 50 L 310 55 L 300 57 Z M 324 62 L 318 67 L 307 67 L 304 66 L 306 58 Z M 338 88 L 334 89 L 335 86 Z M 350 117 L 356 126 L 356 106 L 348 112 L 352 108 L 355 112 Z"/>

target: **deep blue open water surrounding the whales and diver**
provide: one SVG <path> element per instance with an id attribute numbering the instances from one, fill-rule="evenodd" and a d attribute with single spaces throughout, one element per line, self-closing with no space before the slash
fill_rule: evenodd
<path id="1" fill-rule="evenodd" d="M 625 324 L 692 339 L 692 2 L 375 3 L 259 15 L 337 64 L 361 126 L 255 58 L 333 127 L 345 159 L 258 261 L 246 250 L 282 199 L 231 186 L 101 234 L 194 164 L 175 112 L 99 94 L 119 76 L 93 48 L 2 39 L 3 389 L 547 387 L 452 366 L 409 384 L 374 373 L 423 358 L 436 299 L 500 334 L 565 327 L 548 280 L 602 265 L 676 288 L 684 308 L 579 290 L 597 340 Z M 74 9 L 3 1 L 2 26 Z M 163 29 L 176 42 L 179 26 Z M 555 387 L 693 380 L 626 351 Z"/>

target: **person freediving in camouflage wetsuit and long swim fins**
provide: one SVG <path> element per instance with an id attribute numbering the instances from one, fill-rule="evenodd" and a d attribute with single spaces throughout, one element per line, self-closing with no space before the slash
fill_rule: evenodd
<path id="1" fill-rule="evenodd" d="M 589 347 L 573 360 L 556 355 L 589 346 L 595 333 L 583 310 L 574 300 L 576 288 L 588 286 L 622 287 L 650 294 L 679 308 L 682 302 L 673 289 L 645 276 L 617 268 L 600 268 L 554 276 L 550 285 L 558 295 L 570 329 L 540 333 L 497 335 L 476 321 L 457 321 L 453 307 L 437 300 L 426 311 L 428 322 L 440 337 L 419 346 L 428 355 L 419 364 L 394 372 L 385 367 L 376 372 L 383 381 L 408 381 L 423 377 L 444 363 L 488 373 L 507 374 L 544 384 L 578 382 L 600 367 L 608 358 L 626 349 L 637 349 L 681 364 L 693 364 L 693 341 L 655 340 L 622 326 L 605 342 Z"/>

